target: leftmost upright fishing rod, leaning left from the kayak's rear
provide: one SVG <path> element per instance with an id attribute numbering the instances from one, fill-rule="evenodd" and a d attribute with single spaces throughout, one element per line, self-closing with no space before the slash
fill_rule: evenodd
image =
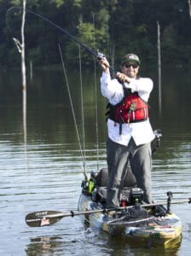
<path id="1" fill-rule="evenodd" d="M 86 175 L 86 172 L 85 172 L 84 154 L 83 154 L 82 146 L 81 146 L 81 143 L 80 143 L 80 138 L 79 138 L 79 133 L 78 133 L 78 125 L 77 125 L 76 116 L 75 116 L 75 113 L 74 113 L 70 87 L 69 87 L 69 83 L 68 83 L 68 80 L 67 80 L 67 70 L 66 70 L 66 67 L 65 67 L 65 63 L 64 63 L 64 60 L 63 60 L 62 53 L 61 53 L 61 45 L 60 44 L 59 44 L 59 51 L 60 51 L 60 55 L 61 55 L 61 65 L 62 65 L 62 68 L 63 68 L 64 77 L 65 77 L 66 84 L 67 84 L 67 92 L 68 92 L 68 96 L 69 96 L 69 100 L 70 100 L 70 105 L 71 105 L 71 108 L 72 108 L 72 116 L 73 116 L 74 125 L 75 125 L 75 129 L 76 129 L 77 137 L 78 137 L 79 150 L 80 150 L 80 154 L 81 154 L 81 157 L 82 157 L 84 177 L 87 179 L 87 175 Z"/>

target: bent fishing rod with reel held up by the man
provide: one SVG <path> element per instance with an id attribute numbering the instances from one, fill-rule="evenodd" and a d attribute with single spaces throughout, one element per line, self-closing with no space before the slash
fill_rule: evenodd
<path id="1" fill-rule="evenodd" d="M 9 8 L 7 10 L 7 14 L 6 16 L 9 15 L 9 12 L 13 11 L 14 9 L 21 9 L 23 10 L 22 7 L 19 7 L 19 6 L 13 6 L 11 8 Z M 55 24 L 53 21 L 47 19 L 46 17 L 44 17 L 43 15 L 39 15 L 38 13 L 32 11 L 31 9 L 25 9 L 27 13 L 30 13 L 32 15 L 36 15 L 38 16 L 38 18 L 40 18 L 41 20 L 44 20 L 46 21 L 47 23 L 49 23 L 50 25 L 52 26 L 55 26 L 55 28 L 57 28 L 59 31 L 61 31 L 62 33 L 66 34 L 69 38 L 71 38 L 74 42 L 76 42 L 77 44 L 79 44 L 82 48 L 84 48 L 85 50 L 87 50 L 87 52 L 90 53 L 90 55 L 94 55 L 96 56 L 96 59 L 102 59 L 102 58 L 105 58 L 105 55 L 102 54 L 101 52 L 97 51 L 95 52 L 93 49 L 90 49 L 90 47 L 88 47 L 86 44 L 82 43 L 81 41 L 78 40 L 78 38 L 75 38 L 74 36 L 72 36 L 71 33 L 67 32 L 66 29 L 62 28 L 61 26 Z M 113 67 L 110 67 L 109 66 L 109 69 L 113 72 L 113 73 L 116 73 L 116 70 L 113 68 Z"/>

